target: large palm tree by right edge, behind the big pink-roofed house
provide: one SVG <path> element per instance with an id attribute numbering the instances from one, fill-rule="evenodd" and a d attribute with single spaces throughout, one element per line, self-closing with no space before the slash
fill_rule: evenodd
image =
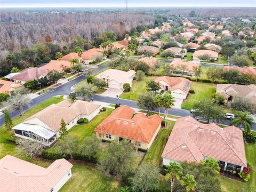
<path id="1" fill-rule="evenodd" d="M 239 129 L 242 129 L 243 126 L 244 131 L 249 133 L 253 125 L 251 113 L 247 111 L 237 111 L 237 113 L 235 113 L 235 118 L 230 122 L 230 125 L 239 126 Z"/>

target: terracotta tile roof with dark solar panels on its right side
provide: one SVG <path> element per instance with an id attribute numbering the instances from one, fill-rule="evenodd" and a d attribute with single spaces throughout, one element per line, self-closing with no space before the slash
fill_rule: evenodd
<path id="1" fill-rule="evenodd" d="M 155 79 L 155 82 L 159 83 L 161 81 L 164 81 L 165 83 L 169 84 L 171 86 L 171 91 L 179 89 L 185 93 L 188 93 L 191 86 L 191 82 L 188 79 L 182 78 L 182 77 L 162 76 L 162 77 L 157 77 Z M 187 83 L 188 83 L 188 86 L 185 86 Z M 187 88 L 184 89 L 184 87 L 187 87 Z"/>

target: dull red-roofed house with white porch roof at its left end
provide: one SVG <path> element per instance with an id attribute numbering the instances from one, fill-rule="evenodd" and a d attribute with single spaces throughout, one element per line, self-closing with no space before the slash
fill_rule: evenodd
<path id="1" fill-rule="evenodd" d="M 14 83 L 24 84 L 27 81 L 34 81 L 41 78 L 46 78 L 50 70 L 42 69 L 38 67 L 29 67 L 18 73 L 11 73 L 6 75 L 5 78 L 10 79 Z"/>

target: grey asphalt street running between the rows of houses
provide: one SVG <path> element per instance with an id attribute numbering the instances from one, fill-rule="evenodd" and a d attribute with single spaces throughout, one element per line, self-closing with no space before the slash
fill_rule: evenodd
<path id="1" fill-rule="evenodd" d="M 106 66 L 105 65 L 101 65 L 97 68 L 97 70 L 94 71 L 94 74 L 98 73 L 99 71 L 105 69 Z M 23 111 L 28 110 L 31 107 L 36 106 L 37 104 L 45 101 L 46 99 L 49 99 L 51 97 L 57 96 L 57 95 L 69 95 L 72 90 L 71 87 L 81 81 L 83 81 L 84 79 L 86 79 L 85 75 L 79 76 L 49 92 L 46 92 L 42 95 L 39 95 L 38 97 L 34 98 L 33 100 L 31 100 L 31 104 L 29 107 L 25 106 L 23 108 Z M 101 102 L 107 102 L 107 103 L 117 103 L 119 102 L 121 105 L 128 105 L 132 108 L 138 108 L 137 107 L 137 102 L 136 101 L 132 101 L 132 100 L 127 100 L 127 99 L 118 99 L 118 98 L 111 98 L 111 97 L 105 97 L 105 96 L 101 96 L 101 95 L 94 95 L 93 99 L 95 101 L 101 101 Z M 155 110 L 156 112 L 158 112 L 158 109 Z M 161 108 L 161 113 L 164 113 L 164 108 Z M 10 113 L 10 116 L 13 118 L 15 116 L 18 116 L 19 113 L 17 112 L 13 112 Z M 185 110 L 185 109 L 169 109 L 169 115 L 174 115 L 174 116 L 180 116 L 180 117 L 184 117 L 184 116 L 188 116 L 192 114 L 190 113 L 189 110 Z M 199 118 L 200 120 L 203 120 L 202 118 Z M 225 121 L 223 124 L 225 125 L 229 125 L 230 120 Z M 0 116 L 0 126 L 2 126 L 4 124 L 4 115 Z M 256 131 L 256 123 L 253 124 L 253 128 L 252 130 Z"/>

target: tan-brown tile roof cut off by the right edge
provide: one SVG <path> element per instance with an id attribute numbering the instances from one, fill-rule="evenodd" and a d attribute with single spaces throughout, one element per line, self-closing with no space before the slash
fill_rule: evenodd
<path id="1" fill-rule="evenodd" d="M 256 85 L 217 84 L 217 93 L 223 94 L 225 98 L 230 95 L 240 95 L 256 103 Z"/>

